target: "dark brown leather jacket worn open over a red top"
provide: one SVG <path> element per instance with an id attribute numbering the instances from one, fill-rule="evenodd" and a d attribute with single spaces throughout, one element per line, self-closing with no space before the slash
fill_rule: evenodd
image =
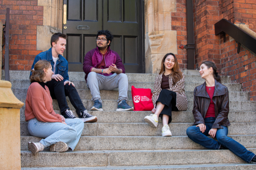
<path id="1" fill-rule="evenodd" d="M 193 115 L 195 118 L 195 123 L 200 124 L 204 123 L 204 117 L 210 105 L 210 97 L 205 89 L 206 83 L 199 85 L 194 90 L 194 108 Z M 212 101 L 215 105 L 215 122 L 212 125 L 212 128 L 223 129 L 222 126 L 230 126 L 228 120 L 229 112 L 229 98 L 228 98 L 228 88 L 225 85 L 222 85 L 215 80 L 215 88 L 212 97 Z"/>

